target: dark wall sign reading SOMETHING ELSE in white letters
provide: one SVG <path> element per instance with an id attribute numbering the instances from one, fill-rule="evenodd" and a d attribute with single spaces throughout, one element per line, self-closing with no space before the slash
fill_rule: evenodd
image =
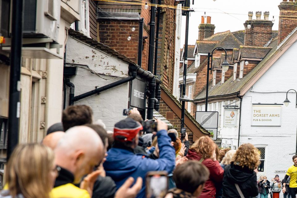
<path id="1" fill-rule="evenodd" d="M 132 80 L 130 106 L 145 109 L 146 104 L 146 83 L 139 80 Z"/>

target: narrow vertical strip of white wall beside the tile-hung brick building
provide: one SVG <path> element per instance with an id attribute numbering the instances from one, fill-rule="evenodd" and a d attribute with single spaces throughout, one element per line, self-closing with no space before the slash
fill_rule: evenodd
<path id="1" fill-rule="evenodd" d="M 180 38 L 182 30 L 182 4 L 176 8 L 176 30 L 175 30 L 175 53 L 174 53 L 174 78 L 173 78 L 173 95 L 179 96 L 179 58 L 180 58 Z"/>

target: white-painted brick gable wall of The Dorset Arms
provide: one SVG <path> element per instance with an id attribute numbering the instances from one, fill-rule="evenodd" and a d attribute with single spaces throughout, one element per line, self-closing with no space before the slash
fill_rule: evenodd
<path id="1" fill-rule="evenodd" d="M 293 164 L 292 156 L 296 148 L 297 109 L 295 92 L 288 93 L 290 105 L 282 106 L 281 126 L 251 126 L 252 103 L 282 104 L 289 89 L 297 84 L 296 56 L 297 44 L 294 43 L 243 96 L 242 125 L 240 144 L 249 142 L 255 146 L 266 147 L 265 172 L 271 180 L 275 170 L 287 170 Z M 271 93 L 267 93 L 271 92 Z M 280 173 L 283 179 L 285 173 Z"/>

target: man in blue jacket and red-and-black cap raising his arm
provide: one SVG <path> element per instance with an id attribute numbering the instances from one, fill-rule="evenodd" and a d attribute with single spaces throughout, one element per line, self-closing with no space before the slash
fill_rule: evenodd
<path id="1" fill-rule="evenodd" d="M 148 171 L 166 170 L 171 173 L 175 166 L 175 150 L 170 144 L 167 135 L 167 125 L 157 120 L 157 137 L 160 157 L 156 160 L 141 154 L 134 154 L 134 148 L 138 145 L 140 123 L 131 118 L 126 118 L 114 125 L 114 145 L 107 152 L 104 170 L 117 185 L 122 186 L 128 177 L 143 179 L 141 191 L 136 197 L 145 197 L 145 176 Z"/>

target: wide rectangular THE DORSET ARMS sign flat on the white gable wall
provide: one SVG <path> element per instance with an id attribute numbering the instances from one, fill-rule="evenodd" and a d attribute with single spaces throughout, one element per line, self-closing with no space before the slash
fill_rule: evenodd
<path id="1" fill-rule="evenodd" d="M 282 104 L 253 104 L 252 126 L 281 126 Z"/>

